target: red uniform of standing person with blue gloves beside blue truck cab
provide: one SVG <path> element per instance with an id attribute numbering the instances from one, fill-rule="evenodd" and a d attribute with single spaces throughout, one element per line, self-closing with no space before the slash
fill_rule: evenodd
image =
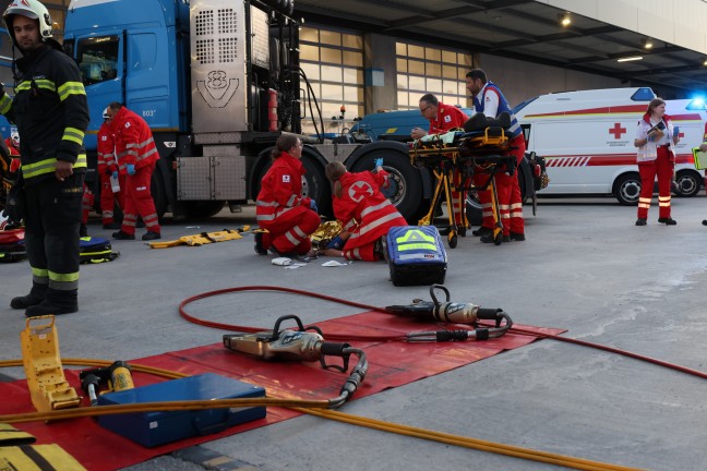
<path id="1" fill-rule="evenodd" d="M 121 230 L 135 233 L 135 222 L 141 216 L 149 232 L 160 233 L 155 202 L 149 185 L 155 165 L 159 159 L 149 126 L 136 113 L 122 107 L 116 113 L 112 125 L 116 138 L 118 171 L 125 176 L 125 206 Z M 135 166 L 135 173 L 128 173 L 128 165 Z"/>

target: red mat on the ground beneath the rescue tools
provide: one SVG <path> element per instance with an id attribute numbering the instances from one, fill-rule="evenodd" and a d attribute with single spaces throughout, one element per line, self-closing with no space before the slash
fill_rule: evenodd
<path id="1" fill-rule="evenodd" d="M 408 331 L 432 330 L 431 324 L 396 317 L 381 313 L 363 313 L 335 318 L 317 324 L 327 334 L 356 336 L 393 336 Z M 290 327 L 285 323 L 284 327 Z M 561 334 L 562 329 L 519 326 L 541 334 Z M 223 333 L 214 337 L 220 340 Z M 354 396 L 354 400 L 382 390 L 402 386 L 428 376 L 474 363 L 504 350 L 512 350 L 536 340 L 531 336 L 506 334 L 498 339 L 486 341 L 465 341 L 445 343 L 409 343 L 399 341 L 350 341 L 352 347 L 362 349 L 370 366 L 366 381 Z M 107 359 L 106 359 L 107 360 Z M 122 359 L 121 359 L 122 360 Z M 339 364 L 340 359 L 327 358 L 327 363 Z M 357 358 L 351 355 L 349 367 L 355 366 Z M 216 373 L 230 376 L 265 388 L 268 397 L 287 399 L 331 399 L 338 391 L 348 374 L 323 370 L 319 362 L 274 363 L 250 358 L 226 350 L 220 343 L 196 347 L 188 350 L 168 352 L 160 355 L 128 360 L 129 363 L 156 366 L 185 374 Z M 67 370 L 69 383 L 81 391 L 76 370 Z M 164 381 L 147 374 L 135 373 L 136 386 Z M 81 394 L 81 392 L 80 392 Z M 26 381 L 0 383 L 0 414 L 33 412 Z M 84 398 L 87 404 L 87 399 Z M 343 407 L 346 410 L 346 406 Z M 59 444 L 88 470 L 116 470 L 165 455 L 176 449 L 256 428 L 299 415 L 281 408 L 268 408 L 267 416 L 228 428 L 224 432 L 193 437 L 155 448 L 145 448 L 100 427 L 94 419 L 74 419 L 46 424 L 44 422 L 16 424 L 37 437 L 38 444 Z"/>

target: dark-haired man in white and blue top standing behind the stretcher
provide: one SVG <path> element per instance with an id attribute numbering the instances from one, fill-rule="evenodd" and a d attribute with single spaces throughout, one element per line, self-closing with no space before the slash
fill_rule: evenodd
<path id="1" fill-rule="evenodd" d="M 523 196 L 520 195 L 520 185 L 518 183 L 518 166 L 525 158 L 526 145 L 523 130 L 518 120 L 513 114 L 508 101 L 505 99 L 501 89 L 487 80 L 487 74 L 481 69 L 474 69 L 466 74 L 467 89 L 471 92 L 474 108 L 477 112 L 482 112 L 489 118 L 498 118 L 502 112 L 511 114 L 511 128 L 506 131 L 511 140 L 512 153 L 516 157 L 516 169 L 513 176 L 504 171 L 495 173 L 496 193 L 499 195 L 499 213 L 503 224 L 503 240 L 524 241 L 525 240 L 525 220 L 523 219 Z M 486 181 L 486 176 L 475 174 L 475 184 L 481 184 Z M 481 228 L 474 231 L 475 235 L 481 235 L 482 242 L 493 242 L 493 213 L 491 209 L 491 192 L 479 191 L 479 202 L 482 208 Z"/>

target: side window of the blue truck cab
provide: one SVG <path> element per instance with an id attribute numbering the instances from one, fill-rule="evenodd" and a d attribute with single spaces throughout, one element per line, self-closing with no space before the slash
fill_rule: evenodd
<path id="1" fill-rule="evenodd" d="M 118 36 L 80 39 L 76 62 L 84 85 L 113 80 L 118 76 Z"/>

